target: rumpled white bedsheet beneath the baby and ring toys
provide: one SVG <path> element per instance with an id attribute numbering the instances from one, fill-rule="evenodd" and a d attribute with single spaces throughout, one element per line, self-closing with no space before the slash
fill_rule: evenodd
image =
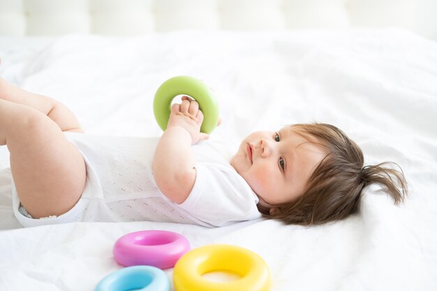
<path id="1" fill-rule="evenodd" d="M 237 142 L 253 130 L 327 122 L 360 144 L 366 163 L 399 163 L 410 186 L 401 207 L 372 186 L 359 213 L 318 227 L 260 219 L 216 229 L 151 222 L 23 229 L 1 147 L 0 290 L 93 290 L 120 268 L 114 241 L 151 229 L 180 232 L 193 248 L 255 251 L 272 271 L 272 291 L 437 290 L 437 43 L 397 30 L 71 35 L 0 38 L 0 58 L 1 76 L 66 103 L 89 133 L 160 135 L 154 92 L 169 77 L 192 75 L 219 98 L 223 124 L 212 138 Z"/>

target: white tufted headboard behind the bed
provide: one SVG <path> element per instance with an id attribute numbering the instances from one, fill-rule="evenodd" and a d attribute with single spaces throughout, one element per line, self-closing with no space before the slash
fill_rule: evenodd
<path id="1" fill-rule="evenodd" d="M 437 39 L 436 0 L 0 0 L 0 35 L 399 27 Z"/>

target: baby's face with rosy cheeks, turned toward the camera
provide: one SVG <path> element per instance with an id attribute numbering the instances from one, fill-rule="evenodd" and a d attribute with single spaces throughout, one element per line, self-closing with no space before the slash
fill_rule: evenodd
<path id="1" fill-rule="evenodd" d="M 302 195 L 325 155 L 322 147 L 286 126 L 278 132 L 251 133 L 230 164 L 255 191 L 260 203 L 269 207 Z"/>

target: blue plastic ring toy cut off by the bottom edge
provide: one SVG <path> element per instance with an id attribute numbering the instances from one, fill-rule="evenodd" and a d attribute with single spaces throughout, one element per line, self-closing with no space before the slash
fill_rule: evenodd
<path id="1" fill-rule="evenodd" d="M 161 269 L 133 266 L 119 269 L 103 278 L 94 291 L 170 291 L 170 281 Z"/>

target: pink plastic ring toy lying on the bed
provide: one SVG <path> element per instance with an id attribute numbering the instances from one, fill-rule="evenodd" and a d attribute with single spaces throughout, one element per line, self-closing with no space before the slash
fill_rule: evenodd
<path id="1" fill-rule="evenodd" d="M 181 234 L 165 230 L 143 230 L 125 234 L 115 241 L 114 259 L 129 267 L 145 264 L 167 269 L 190 251 L 190 243 Z"/>

